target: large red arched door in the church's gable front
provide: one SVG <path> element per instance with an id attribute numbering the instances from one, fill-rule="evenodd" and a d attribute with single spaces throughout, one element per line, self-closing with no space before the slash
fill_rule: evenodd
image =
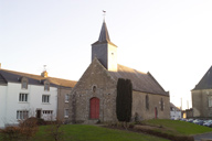
<path id="1" fill-rule="evenodd" d="M 89 100 L 89 118 L 99 119 L 99 99 L 96 97 Z"/>

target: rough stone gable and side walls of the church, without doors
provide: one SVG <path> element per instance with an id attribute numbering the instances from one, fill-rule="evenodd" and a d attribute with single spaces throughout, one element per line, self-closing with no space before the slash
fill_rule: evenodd
<path id="1" fill-rule="evenodd" d="M 84 122 L 89 118 L 89 100 L 99 99 L 99 120 L 117 121 L 116 118 L 116 89 L 117 82 L 107 69 L 95 58 L 85 70 L 78 83 L 71 91 L 70 120 Z M 95 88 L 95 89 L 94 89 Z M 149 109 L 146 108 L 146 95 L 149 97 Z M 161 99 L 163 107 L 161 109 Z M 132 120 L 153 119 L 157 108 L 157 118 L 170 118 L 169 96 L 132 91 Z"/>

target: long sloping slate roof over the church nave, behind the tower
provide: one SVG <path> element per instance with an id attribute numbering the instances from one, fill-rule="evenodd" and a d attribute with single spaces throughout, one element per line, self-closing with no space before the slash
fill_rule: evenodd
<path id="1" fill-rule="evenodd" d="M 132 89 L 141 93 L 167 95 L 160 84 L 153 78 L 150 73 L 142 73 L 118 64 L 117 72 L 109 72 L 109 74 L 117 80 L 118 78 L 127 78 L 132 83 Z"/>

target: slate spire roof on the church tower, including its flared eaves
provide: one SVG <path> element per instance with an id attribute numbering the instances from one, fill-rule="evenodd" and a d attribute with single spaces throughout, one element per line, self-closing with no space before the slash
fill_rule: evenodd
<path id="1" fill-rule="evenodd" d="M 95 42 L 94 44 L 92 44 L 92 45 L 95 45 L 95 44 L 104 44 L 104 43 L 108 43 L 108 44 L 115 45 L 114 43 L 110 42 L 109 33 L 108 33 L 107 25 L 106 25 L 105 21 L 103 22 L 98 41 L 96 41 L 96 42 Z M 115 45 L 115 46 L 116 46 L 116 45 Z"/>

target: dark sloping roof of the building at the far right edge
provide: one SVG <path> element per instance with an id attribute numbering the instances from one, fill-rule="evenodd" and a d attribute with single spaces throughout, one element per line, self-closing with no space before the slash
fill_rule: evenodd
<path id="1" fill-rule="evenodd" d="M 205 75 L 202 77 L 202 79 L 199 82 L 198 85 L 195 85 L 197 89 L 211 89 L 212 88 L 212 66 L 209 68 L 209 70 L 205 73 Z"/>

